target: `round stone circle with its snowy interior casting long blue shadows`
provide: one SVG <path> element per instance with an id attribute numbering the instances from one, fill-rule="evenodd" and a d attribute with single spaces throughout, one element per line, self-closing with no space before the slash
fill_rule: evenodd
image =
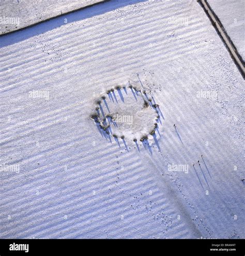
<path id="1" fill-rule="evenodd" d="M 96 125 L 106 136 L 144 141 L 154 136 L 160 119 L 150 93 L 137 84 L 116 85 L 98 97 L 91 113 Z"/>

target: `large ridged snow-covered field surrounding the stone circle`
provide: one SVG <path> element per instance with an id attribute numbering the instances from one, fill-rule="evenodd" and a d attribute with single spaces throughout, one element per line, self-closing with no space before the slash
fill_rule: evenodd
<path id="1" fill-rule="evenodd" d="M 245 238 L 244 80 L 196 1 L 112 0 L 0 47 L 1 238 Z"/>

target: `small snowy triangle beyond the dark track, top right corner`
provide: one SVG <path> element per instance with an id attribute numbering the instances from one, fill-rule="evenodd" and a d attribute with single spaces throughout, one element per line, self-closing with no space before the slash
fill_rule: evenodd
<path id="1" fill-rule="evenodd" d="M 208 3 L 219 17 L 242 59 L 245 60 L 245 1 L 208 0 Z"/>

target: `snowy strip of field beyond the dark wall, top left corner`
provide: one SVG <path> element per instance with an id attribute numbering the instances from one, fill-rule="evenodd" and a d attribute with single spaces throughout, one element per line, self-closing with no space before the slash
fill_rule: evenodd
<path id="1" fill-rule="evenodd" d="M 1 0 L 0 35 L 102 0 Z"/>

